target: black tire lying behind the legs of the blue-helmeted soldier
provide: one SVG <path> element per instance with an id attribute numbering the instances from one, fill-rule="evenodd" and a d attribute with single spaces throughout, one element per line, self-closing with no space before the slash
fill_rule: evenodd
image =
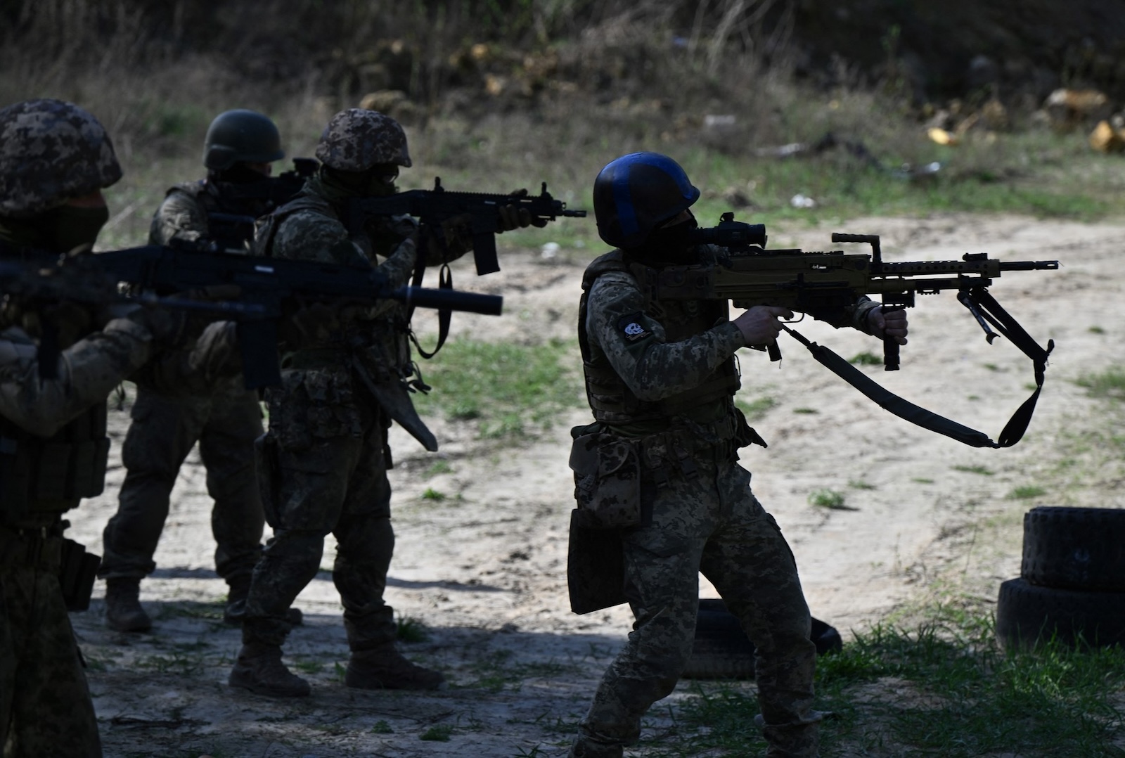
<path id="1" fill-rule="evenodd" d="M 818 655 L 843 647 L 839 632 L 819 619 L 812 620 L 809 637 L 817 644 Z M 754 678 L 754 643 L 721 599 L 700 601 L 692 656 L 682 676 L 685 679 Z"/>

